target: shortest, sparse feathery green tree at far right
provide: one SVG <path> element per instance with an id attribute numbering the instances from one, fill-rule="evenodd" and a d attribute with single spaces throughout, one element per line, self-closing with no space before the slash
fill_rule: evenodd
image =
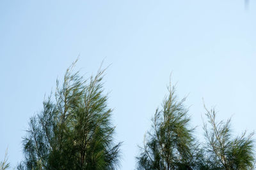
<path id="1" fill-rule="evenodd" d="M 227 122 L 216 121 L 214 108 L 206 110 L 210 128 L 204 122 L 205 156 L 208 169 L 253 169 L 255 157 L 253 154 L 253 133 L 233 138 L 230 129 L 230 118 Z"/>

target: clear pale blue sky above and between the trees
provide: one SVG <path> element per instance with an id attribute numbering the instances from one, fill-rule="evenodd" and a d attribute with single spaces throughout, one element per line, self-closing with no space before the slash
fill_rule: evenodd
<path id="1" fill-rule="evenodd" d="M 246 0 L 248 1 L 248 0 Z M 104 60 L 122 167 L 134 169 L 150 119 L 168 90 L 188 96 L 204 139 L 203 99 L 235 134 L 255 130 L 256 1 L 0 1 L 0 160 L 22 160 L 29 117 L 42 110 L 79 56 L 89 77 Z"/>

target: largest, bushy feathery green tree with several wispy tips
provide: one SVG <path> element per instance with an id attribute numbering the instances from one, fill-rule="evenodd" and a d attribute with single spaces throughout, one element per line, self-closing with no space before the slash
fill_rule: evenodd
<path id="1" fill-rule="evenodd" d="M 54 100 L 44 100 L 43 110 L 30 118 L 23 139 L 25 160 L 18 169 L 115 169 L 120 145 L 113 141 L 108 96 L 102 78 L 105 69 L 84 80 L 68 67 L 62 86 L 57 80 Z"/>

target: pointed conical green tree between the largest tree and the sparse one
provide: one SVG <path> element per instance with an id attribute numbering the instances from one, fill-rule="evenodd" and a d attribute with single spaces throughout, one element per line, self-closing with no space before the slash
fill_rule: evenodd
<path id="1" fill-rule="evenodd" d="M 152 131 L 144 138 L 137 169 L 191 169 L 196 166 L 195 138 L 189 128 L 185 98 L 177 101 L 175 87 L 168 88 L 161 109 L 152 118 Z M 199 152 L 198 152 L 199 153 Z"/>

